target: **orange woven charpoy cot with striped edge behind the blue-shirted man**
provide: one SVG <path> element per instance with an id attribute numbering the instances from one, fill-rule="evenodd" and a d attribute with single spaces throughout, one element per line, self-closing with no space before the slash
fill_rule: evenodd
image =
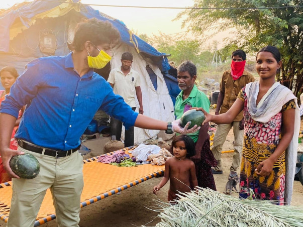
<path id="1" fill-rule="evenodd" d="M 128 149 L 123 150 L 128 153 Z M 164 165 L 144 164 L 133 167 L 117 167 L 97 162 L 97 157 L 83 162 L 85 164 L 83 165 L 84 188 L 81 194 L 81 207 L 164 173 Z M 11 184 L 12 182 L 7 182 L 0 186 L 0 219 L 5 222 L 8 221 L 11 206 Z M 47 190 L 34 226 L 55 218 L 52 196 L 50 190 Z"/>

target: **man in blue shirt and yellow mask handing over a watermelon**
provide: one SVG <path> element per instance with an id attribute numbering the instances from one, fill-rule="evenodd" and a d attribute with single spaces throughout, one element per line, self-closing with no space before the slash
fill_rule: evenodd
<path id="1" fill-rule="evenodd" d="M 111 60 L 120 40 L 109 22 L 91 19 L 75 31 L 74 51 L 63 57 L 43 57 L 30 62 L 11 88 L 0 108 L 0 154 L 13 177 L 13 197 L 7 226 L 34 226 L 37 213 L 50 188 L 59 226 L 76 227 L 83 188 L 83 159 L 77 152 L 80 136 L 97 109 L 122 121 L 126 128 L 192 133 L 197 127 L 180 128 L 134 112 L 110 84 L 93 72 Z M 19 109 L 27 105 L 16 138 L 18 151 L 9 149 Z M 187 125 L 188 126 L 188 125 Z M 29 153 L 40 163 L 34 179 L 21 179 L 10 168 L 14 155 Z"/>

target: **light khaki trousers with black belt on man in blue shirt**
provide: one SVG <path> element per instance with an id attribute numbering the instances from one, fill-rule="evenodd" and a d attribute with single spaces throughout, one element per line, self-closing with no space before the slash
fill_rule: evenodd
<path id="1" fill-rule="evenodd" d="M 30 180 L 13 179 L 13 196 L 8 227 L 32 227 L 46 190 L 50 188 L 59 227 L 78 227 L 83 189 L 83 158 L 78 152 L 56 159 L 25 150 L 40 163 L 39 175 Z"/>

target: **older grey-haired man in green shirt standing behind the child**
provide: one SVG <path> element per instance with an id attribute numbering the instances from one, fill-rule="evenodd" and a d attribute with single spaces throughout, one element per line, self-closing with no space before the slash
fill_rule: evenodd
<path id="1" fill-rule="evenodd" d="M 191 61 L 184 61 L 178 67 L 178 86 L 181 92 L 178 94 L 175 103 L 176 119 L 180 119 L 184 112 L 190 107 L 202 107 L 207 112 L 210 111 L 210 100 L 206 94 L 198 90 L 194 84 L 196 80 L 196 67 Z M 217 165 L 217 161 L 210 149 L 210 136 L 208 134 L 209 125 L 201 126 L 195 133 L 187 134 L 195 143 L 195 156 L 191 160 L 195 163 L 196 177 L 199 187 L 209 187 L 216 190 L 212 168 Z"/>

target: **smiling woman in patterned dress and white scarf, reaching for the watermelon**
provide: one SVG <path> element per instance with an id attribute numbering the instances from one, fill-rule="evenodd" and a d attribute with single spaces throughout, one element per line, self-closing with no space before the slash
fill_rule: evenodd
<path id="1" fill-rule="evenodd" d="M 246 198 L 253 191 L 254 199 L 283 205 L 291 201 L 299 109 L 291 90 L 275 82 L 280 59 L 277 48 L 262 48 L 256 57 L 260 80 L 247 84 L 226 113 L 213 116 L 203 111 L 205 122 L 227 124 L 243 109 L 240 197 Z"/>

